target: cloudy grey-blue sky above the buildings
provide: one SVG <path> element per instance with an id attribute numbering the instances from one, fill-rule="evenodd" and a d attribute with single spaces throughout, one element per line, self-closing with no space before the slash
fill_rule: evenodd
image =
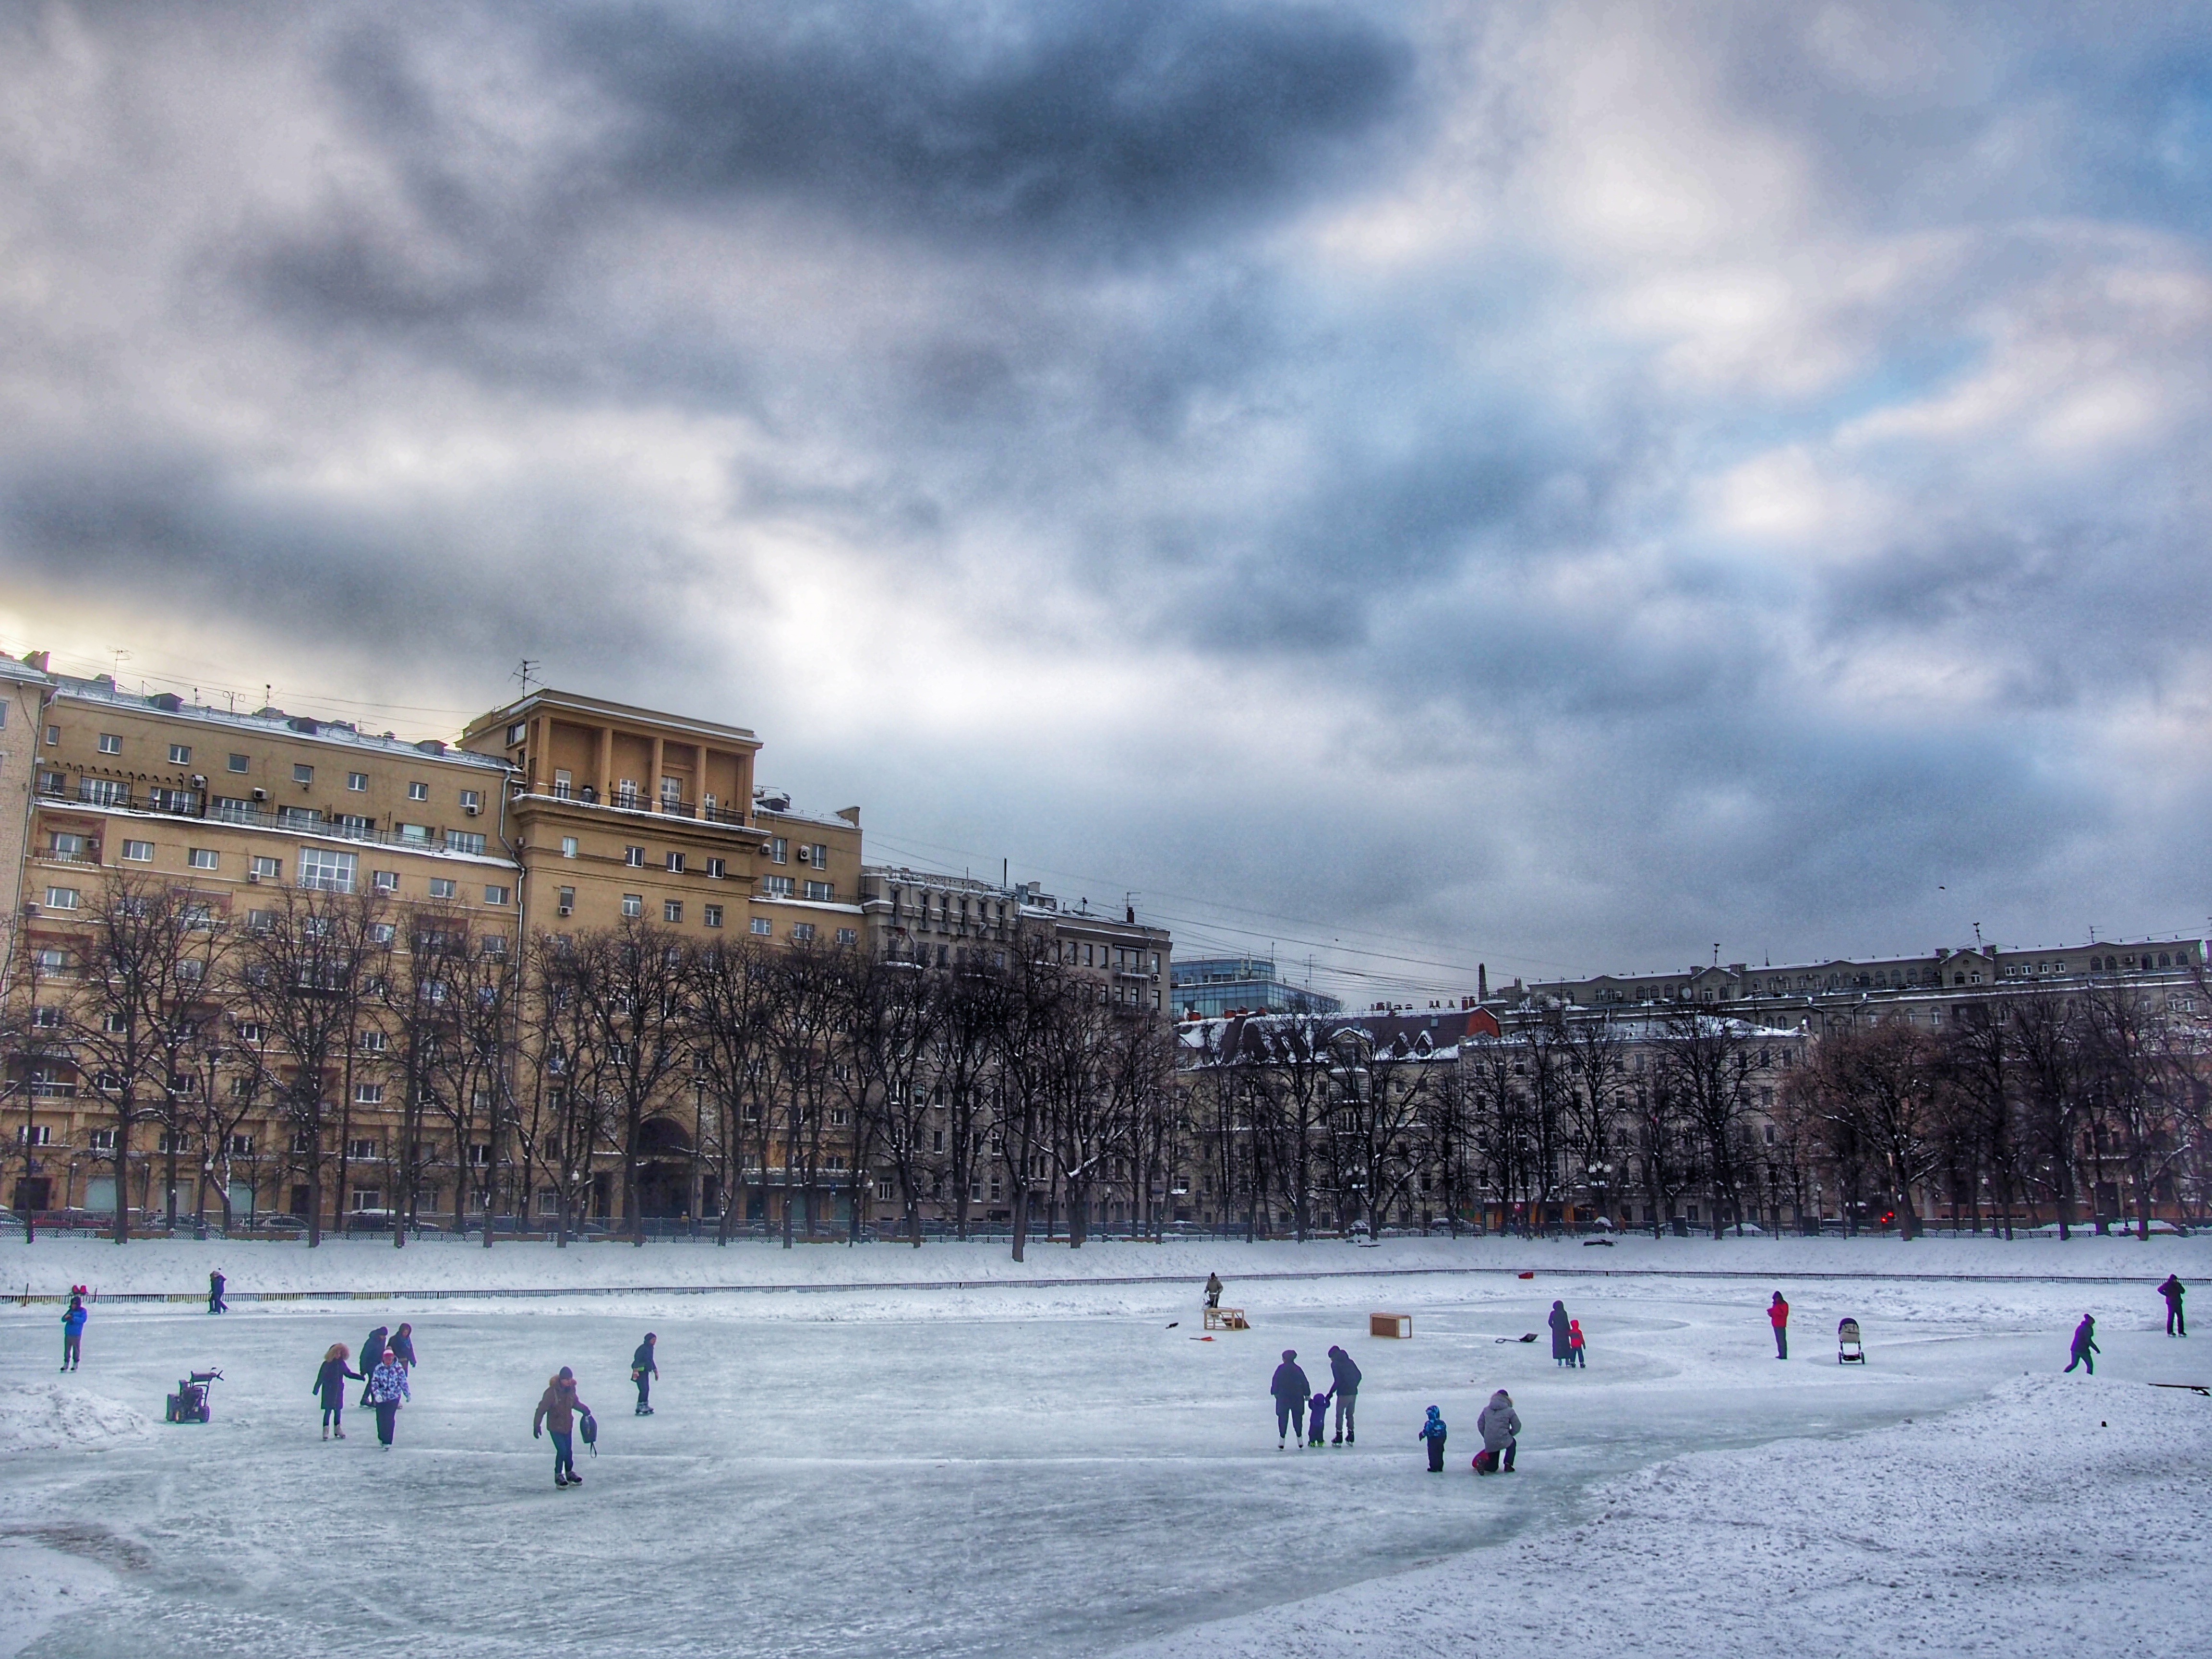
<path id="1" fill-rule="evenodd" d="M 2208 228 L 2201 0 L 11 4 L 0 644 L 1358 1002 L 2203 931 Z"/>

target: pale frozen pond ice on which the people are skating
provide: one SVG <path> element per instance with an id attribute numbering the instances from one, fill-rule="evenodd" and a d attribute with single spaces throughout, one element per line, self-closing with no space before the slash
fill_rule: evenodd
<path id="1" fill-rule="evenodd" d="M 2157 1254 L 2159 1272 L 2188 1279 L 2199 1243 L 2139 1261 Z M 9 1265 L 71 1270 L 40 1250 L 15 1248 Z M 133 1248 L 139 1261 L 157 1250 Z M 498 1254 L 515 1274 L 522 1252 Z M 792 1261 L 712 1254 L 761 1272 Z M 834 1254 L 845 1272 L 916 1261 Z M 1068 1265 L 1064 1250 L 1037 1254 L 1033 1272 Z M 1159 1265 L 1141 1248 L 1084 1254 L 1091 1272 Z M 1228 1274 L 1254 1261 L 1214 1254 Z M 1356 1263 L 1327 1248 L 1287 1259 Z M 389 1254 L 356 1261 L 394 1272 Z M 1725 1265 L 1761 1261 L 1781 1256 Z M 2017 1248 L 1989 1261 L 2042 1263 Z M 246 1270 L 232 1276 L 243 1287 Z M 1774 1285 L 1796 1310 L 1787 1365 L 1763 1316 Z M 1774 1285 L 1232 1276 L 1254 1329 L 1210 1343 L 1192 1340 L 1186 1285 L 246 1303 L 219 1321 L 111 1303 L 69 1378 L 55 1376 L 58 1310 L 11 1305 L 0 1652 L 1108 1652 L 1562 1533 L 1604 1482 L 1681 1453 L 1832 1440 L 1980 1402 L 2064 1365 L 2081 1312 L 2099 1314 L 2099 1387 L 2163 1378 L 2181 1347 L 2159 1332 L 2148 1281 Z M 1500 1340 L 1542 1334 L 1555 1296 L 1590 1336 L 1586 1371 L 1555 1369 L 1548 1338 Z M 2212 1318 L 2212 1296 L 2203 1305 Z M 1369 1338 L 1376 1307 L 1409 1312 L 1413 1340 Z M 1836 1365 L 1843 1314 L 1863 1321 L 1865 1369 Z M 310 1380 L 323 1349 L 358 1349 L 400 1318 L 422 1365 L 398 1447 L 380 1451 L 354 1407 L 349 1440 L 321 1442 Z M 626 1369 L 646 1329 L 659 1334 L 659 1409 L 633 1418 Z M 1298 1349 L 1325 1387 L 1329 1343 L 1367 1374 L 1360 1440 L 1279 1451 L 1276 1356 Z M 577 1491 L 555 1491 L 551 1447 L 529 1431 L 557 1365 L 575 1367 L 602 1420 Z M 188 1367 L 223 1369 L 215 1422 L 166 1427 L 161 1398 Z M 1478 1482 L 1475 1413 L 1498 1387 L 1526 1422 L 1522 1473 Z M 1431 1402 L 1453 1429 L 1444 1475 L 1425 1471 L 1413 1440 Z M 1761 1502 L 1792 1498 L 1823 1502 Z"/>

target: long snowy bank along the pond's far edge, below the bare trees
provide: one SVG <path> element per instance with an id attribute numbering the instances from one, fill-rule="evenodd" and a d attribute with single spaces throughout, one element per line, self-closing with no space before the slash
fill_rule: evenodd
<path id="1" fill-rule="evenodd" d="M 1006 1241 L 931 1241 L 920 1250 L 896 1243 L 814 1243 L 781 1250 L 748 1239 L 728 1248 L 712 1241 L 588 1243 L 557 1250 L 549 1243 L 332 1239 L 274 1241 L 133 1241 L 113 1245 L 91 1237 L 44 1237 L 24 1245 L 0 1239 L 0 1285 L 13 1294 L 58 1296 L 71 1285 L 95 1294 L 204 1296 L 208 1270 L 221 1267 L 234 1298 L 259 1294 L 451 1294 L 465 1290 L 622 1290 L 622 1287 L 759 1287 L 759 1285 L 918 1285 L 918 1283 L 1037 1283 L 1053 1279 L 1166 1279 L 1203 1281 L 1219 1272 L 1237 1303 L 1239 1279 L 1270 1274 L 1413 1274 L 1533 1270 L 1542 1276 L 1703 1276 L 1743 1274 L 1787 1285 L 1818 1276 L 1975 1276 L 1975 1279 L 2124 1279 L 2157 1283 L 2168 1272 L 2183 1281 L 2212 1279 L 2212 1237 L 2137 1239 L 1650 1239 L 1628 1234 L 1606 1245 L 1579 1239 L 1385 1239 L 1371 1250 L 1340 1241 L 1243 1243 L 1237 1239 L 1172 1239 L 1164 1245 L 1093 1241 L 1082 1250 L 1031 1241 L 1029 1261 L 1011 1261 Z M 1416 1281 L 1418 1283 L 1418 1281 Z M 1794 1296 L 1792 1296 L 1794 1301 Z"/>

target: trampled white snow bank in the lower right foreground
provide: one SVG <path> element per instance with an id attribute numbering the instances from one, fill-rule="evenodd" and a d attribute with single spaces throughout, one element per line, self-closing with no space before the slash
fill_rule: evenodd
<path id="1" fill-rule="evenodd" d="M 2208 1475 L 2212 1400 L 2022 1378 L 1849 1440 L 1674 1458 L 1597 1484 L 1577 1526 L 1126 1652 L 2179 1659 L 2208 1644 L 2185 1588 L 2212 1568 Z"/>

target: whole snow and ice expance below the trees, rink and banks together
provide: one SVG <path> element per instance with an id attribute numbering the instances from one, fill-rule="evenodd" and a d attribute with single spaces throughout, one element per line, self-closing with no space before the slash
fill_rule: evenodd
<path id="1" fill-rule="evenodd" d="M 0 1655 L 1323 1655 L 1471 1635 L 1730 1655 L 1900 1630 L 2015 1655 L 2203 1652 L 2201 1595 L 2159 1586 L 2208 1566 L 2212 1400 L 2146 1383 L 2212 1383 L 2150 1292 L 2168 1270 L 2199 1283 L 2208 1245 L 1177 1243 L 1037 1248 L 1013 1267 L 1004 1245 L 9 1243 L 0 1272 L 35 1292 L 192 1292 L 217 1263 L 241 1292 L 564 1294 L 241 1303 L 219 1321 L 106 1303 L 69 1378 L 60 1310 L 7 1305 Z M 1254 1276 L 1460 1263 L 1537 1279 Z M 1192 1340 L 1190 1283 L 1035 1283 L 1208 1265 L 1250 1334 Z M 1655 1276 L 1568 1276 L 1586 1265 Z M 1708 1272 L 1763 1276 L 1692 1276 Z M 911 1283 L 987 1279 L 1006 1283 Z M 1767 1279 L 1796 1307 L 1787 1365 Z M 608 1283 L 872 1287 L 582 1294 Z M 1542 1332 L 1553 1296 L 1590 1332 L 1588 1371 L 1500 1340 Z M 1369 1338 L 1376 1307 L 1413 1314 L 1413 1340 Z M 2099 1378 L 2053 1378 L 2081 1312 L 2099 1316 Z M 1865 1371 L 1836 1365 L 1843 1314 L 1865 1325 Z M 398 1449 L 365 1411 L 323 1444 L 323 1347 L 400 1318 L 422 1369 Z M 648 1327 L 664 1380 L 639 1420 L 626 1360 Z M 1318 1376 L 1332 1340 L 1367 1369 L 1363 1436 L 1276 1451 L 1276 1354 Z M 553 1489 L 529 1438 L 562 1363 L 606 1425 L 580 1491 Z M 161 1396 L 210 1365 L 215 1422 L 161 1425 Z M 1528 1425 L 1522 1473 L 1478 1482 L 1473 1418 L 1495 1387 Z M 1429 1402 L 1453 1425 L 1444 1475 L 1413 1442 Z"/>

